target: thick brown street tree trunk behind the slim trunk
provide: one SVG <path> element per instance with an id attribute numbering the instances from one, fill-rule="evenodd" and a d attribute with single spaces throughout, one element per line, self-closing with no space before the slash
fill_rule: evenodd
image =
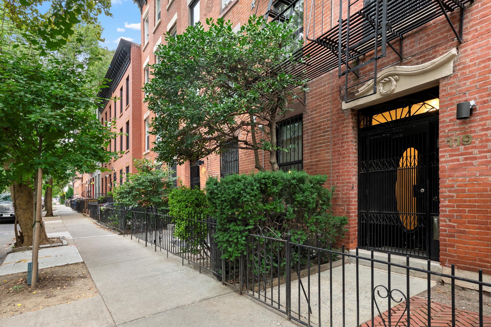
<path id="1" fill-rule="evenodd" d="M 22 246 L 32 245 L 32 207 L 34 206 L 34 194 L 29 185 L 14 183 L 10 185 L 10 193 L 14 202 L 15 217 L 23 236 Z M 39 233 L 39 245 L 51 243 L 46 235 L 44 223 Z"/>

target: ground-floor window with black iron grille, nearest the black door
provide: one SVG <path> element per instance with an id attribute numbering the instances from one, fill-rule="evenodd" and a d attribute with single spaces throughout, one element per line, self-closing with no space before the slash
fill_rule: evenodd
<path id="1" fill-rule="evenodd" d="M 285 119 L 276 125 L 278 166 L 285 172 L 303 169 L 302 115 Z"/>

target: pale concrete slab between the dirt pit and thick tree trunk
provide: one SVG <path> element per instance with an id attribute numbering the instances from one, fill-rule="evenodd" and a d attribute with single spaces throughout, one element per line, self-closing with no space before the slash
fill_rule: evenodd
<path id="1" fill-rule="evenodd" d="M 27 263 L 31 262 L 32 251 L 9 253 L 0 266 L 0 276 L 27 272 Z M 39 269 L 64 266 L 83 262 L 75 245 L 39 250 Z"/>

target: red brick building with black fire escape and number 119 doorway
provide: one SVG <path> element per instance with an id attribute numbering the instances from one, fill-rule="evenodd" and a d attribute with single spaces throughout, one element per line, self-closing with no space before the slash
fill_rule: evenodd
<path id="1" fill-rule="evenodd" d="M 110 88 L 119 97 L 130 76 L 131 114 L 119 117 L 117 103 L 116 125 L 125 132 L 130 120 L 131 150 L 107 164 L 117 176 L 131 157 L 157 159 L 147 132 L 154 114 L 140 88 L 152 78 L 147 65 L 165 33 L 208 17 L 238 27 L 255 13 L 294 15 L 311 81 L 305 99 L 278 122 L 280 141 L 297 146 L 279 153 L 281 168 L 328 175 L 333 210 L 349 218 L 348 248 L 491 274 L 491 2 L 135 2 L 142 46 L 131 45 L 130 66 Z M 268 159 L 265 153 L 266 166 Z M 208 176 L 253 171 L 253 155 L 229 151 L 176 170 L 184 185 L 203 187 Z"/>

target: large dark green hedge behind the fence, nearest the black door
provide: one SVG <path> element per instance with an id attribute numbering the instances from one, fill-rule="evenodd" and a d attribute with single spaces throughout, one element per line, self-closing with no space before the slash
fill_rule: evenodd
<path id="1" fill-rule="evenodd" d="M 206 182 L 210 214 L 217 219 L 215 240 L 222 257 L 239 257 L 246 236 L 255 226 L 266 236 L 292 235 L 292 241 L 315 239 L 320 246 L 345 232 L 346 217 L 330 212 L 332 191 L 324 187 L 326 175 L 303 171 L 229 175 Z"/>

